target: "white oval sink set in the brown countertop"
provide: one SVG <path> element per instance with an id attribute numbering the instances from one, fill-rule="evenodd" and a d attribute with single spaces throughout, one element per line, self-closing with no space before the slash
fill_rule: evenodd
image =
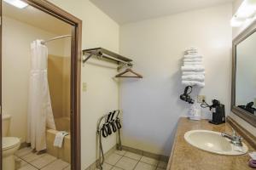
<path id="1" fill-rule="evenodd" d="M 191 130 L 184 134 L 184 139 L 201 150 L 229 156 L 239 156 L 247 153 L 247 145 L 235 146 L 230 139 L 221 136 L 221 133 L 207 130 Z"/>

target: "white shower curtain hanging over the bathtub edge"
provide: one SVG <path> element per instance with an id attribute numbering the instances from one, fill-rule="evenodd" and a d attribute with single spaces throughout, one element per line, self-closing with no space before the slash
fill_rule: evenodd
<path id="1" fill-rule="evenodd" d="M 36 40 L 31 44 L 31 71 L 28 92 L 27 138 L 32 149 L 46 149 L 46 127 L 55 129 L 47 77 L 48 48 Z"/>

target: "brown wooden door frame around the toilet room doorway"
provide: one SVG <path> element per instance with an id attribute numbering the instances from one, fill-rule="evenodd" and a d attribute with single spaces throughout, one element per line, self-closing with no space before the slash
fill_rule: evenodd
<path id="1" fill-rule="evenodd" d="M 81 75 L 81 38 L 82 38 L 82 20 L 72 14 L 67 13 L 62 8 L 55 6 L 45 0 L 23 0 L 34 8 L 38 8 L 47 14 L 63 20 L 73 26 L 72 30 L 72 50 L 71 50 L 71 167 L 73 170 L 81 169 L 81 133 L 80 133 L 80 75 Z M 2 0 L 1 21 L 2 21 Z M 2 22 L 1 22 L 2 23 Z M 2 25 L 0 29 L 2 28 Z M 2 105 L 2 29 L 0 30 L 0 104 Z M 2 120 L 2 114 L 1 114 Z M 2 121 L 0 122 L 0 142 L 2 145 Z M 0 169 L 2 170 L 2 147 L 1 147 Z"/>

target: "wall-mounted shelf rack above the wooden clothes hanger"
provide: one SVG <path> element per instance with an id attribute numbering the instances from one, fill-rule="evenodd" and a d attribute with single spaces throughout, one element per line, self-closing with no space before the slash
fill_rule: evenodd
<path id="1" fill-rule="evenodd" d="M 86 58 L 85 55 L 89 54 Z M 113 60 L 115 62 L 117 62 L 117 64 L 123 64 L 123 65 L 128 65 L 128 66 L 132 66 L 132 59 L 128 59 L 122 55 L 113 53 L 111 51 L 109 51 L 108 49 L 105 48 L 90 48 L 90 49 L 84 49 L 83 50 L 83 55 L 84 55 L 84 59 L 83 59 L 83 63 L 85 63 L 88 59 L 90 59 L 90 57 L 92 56 L 96 56 L 99 59 L 110 59 Z"/>

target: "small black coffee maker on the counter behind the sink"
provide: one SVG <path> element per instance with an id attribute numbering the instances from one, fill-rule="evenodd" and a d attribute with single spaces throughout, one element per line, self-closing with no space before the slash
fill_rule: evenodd
<path id="1" fill-rule="evenodd" d="M 209 107 L 210 111 L 212 111 L 212 120 L 209 121 L 210 123 L 218 125 L 226 122 L 225 106 L 221 104 L 217 99 L 212 99 L 212 105 L 208 105 L 206 101 L 203 101 L 201 107 Z"/>

